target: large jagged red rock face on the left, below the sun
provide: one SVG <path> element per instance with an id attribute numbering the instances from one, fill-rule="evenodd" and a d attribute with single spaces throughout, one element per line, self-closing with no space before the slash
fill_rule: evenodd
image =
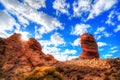
<path id="1" fill-rule="evenodd" d="M 28 41 L 21 39 L 21 34 L 0 38 L 0 63 L 2 71 L 11 76 L 28 72 L 36 66 L 52 65 L 57 62 L 52 55 L 42 52 L 41 45 L 36 39 Z"/>

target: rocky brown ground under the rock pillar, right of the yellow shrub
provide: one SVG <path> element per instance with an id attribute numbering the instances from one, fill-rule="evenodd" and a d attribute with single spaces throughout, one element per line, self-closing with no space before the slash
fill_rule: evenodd
<path id="1" fill-rule="evenodd" d="M 65 80 L 120 80 L 120 58 L 74 59 L 56 64 Z"/>

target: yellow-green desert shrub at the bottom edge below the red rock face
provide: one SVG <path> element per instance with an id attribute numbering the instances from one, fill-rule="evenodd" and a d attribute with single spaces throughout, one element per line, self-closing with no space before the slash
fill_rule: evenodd
<path id="1" fill-rule="evenodd" d="M 52 67 L 36 67 L 29 73 L 23 74 L 19 80 L 64 80 L 62 75 Z"/>

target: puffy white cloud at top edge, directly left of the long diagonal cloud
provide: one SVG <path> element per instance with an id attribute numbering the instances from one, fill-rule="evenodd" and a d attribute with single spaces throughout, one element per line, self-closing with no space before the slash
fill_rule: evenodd
<path id="1" fill-rule="evenodd" d="M 83 13 L 90 11 L 91 0 L 77 0 L 73 3 L 74 16 L 80 17 Z"/>

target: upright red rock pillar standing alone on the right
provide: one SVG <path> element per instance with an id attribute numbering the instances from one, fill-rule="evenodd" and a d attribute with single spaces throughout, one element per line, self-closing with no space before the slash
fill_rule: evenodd
<path id="1" fill-rule="evenodd" d="M 80 44 L 82 47 L 82 59 L 99 58 L 98 45 L 91 34 L 85 33 L 80 37 Z"/>

